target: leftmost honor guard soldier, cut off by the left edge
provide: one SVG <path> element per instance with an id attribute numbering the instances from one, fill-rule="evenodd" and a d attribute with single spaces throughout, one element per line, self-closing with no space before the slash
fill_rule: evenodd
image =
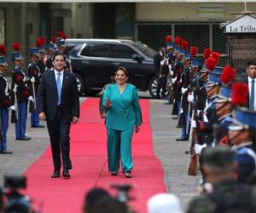
<path id="1" fill-rule="evenodd" d="M 12 154 L 13 152 L 7 149 L 6 133 L 9 127 L 9 109 L 15 110 L 15 107 L 11 106 L 9 87 L 7 79 L 4 78 L 8 69 L 5 55 L 6 47 L 0 44 L 0 154 Z"/>

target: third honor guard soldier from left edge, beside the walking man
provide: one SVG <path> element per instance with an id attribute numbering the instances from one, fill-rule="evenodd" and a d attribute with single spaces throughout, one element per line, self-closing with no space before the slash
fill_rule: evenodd
<path id="1" fill-rule="evenodd" d="M 31 54 L 31 63 L 27 67 L 27 73 L 29 77 L 29 90 L 30 94 L 32 94 L 33 102 L 30 101 L 30 112 L 31 113 L 31 127 L 32 128 L 40 128 L 44 127 L 39 123 L 38 118 L 38 86 L 40 83 L 40 69 L 38 66 L 40 59 L 40 53 L 38 48 L 31 48 L 30 49 Z"/>

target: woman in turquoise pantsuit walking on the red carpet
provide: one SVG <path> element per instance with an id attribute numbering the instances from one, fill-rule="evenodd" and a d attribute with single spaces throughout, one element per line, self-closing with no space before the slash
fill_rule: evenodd
<path id="1" fill-rule="evenodd" d="M 126 83 L 129 74 L 125 67 L 119 67 L 114 75 L 116 83 L 110 84 L 103 94 L 103 105 L 108 109 L 106 127 L 108 132 L 108 170 L 117 176 L 119 160 L 126 177 L 131 177 L 133 160 L 131 138 L 133 131 L 140 130 L 141 107 L 137 88 Z"/>

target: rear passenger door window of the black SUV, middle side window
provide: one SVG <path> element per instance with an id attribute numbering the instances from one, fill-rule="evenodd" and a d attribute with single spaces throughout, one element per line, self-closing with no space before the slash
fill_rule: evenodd
<path id="1" fill-rule="evenodd" d="M 109 44 L 108 43 L 88 43 L 81 55 L 90 57 L 108 57 Z"/>

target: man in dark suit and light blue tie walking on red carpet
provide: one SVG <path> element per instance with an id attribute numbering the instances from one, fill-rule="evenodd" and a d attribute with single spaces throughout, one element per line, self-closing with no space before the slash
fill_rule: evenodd
<path id="1" fill-rule="evenodd" d="M 70 177 L 69 131 L 71 122 L 79 121 L 79 92 L 73 73 L 64 71 L 65 55 L 53 57 L 53 70 L 45 72 L 38 89 L 39 118 L 46 120 L 54 163 L 52 178 L 60 177 L 61 160 L 63 177 Z"/>

